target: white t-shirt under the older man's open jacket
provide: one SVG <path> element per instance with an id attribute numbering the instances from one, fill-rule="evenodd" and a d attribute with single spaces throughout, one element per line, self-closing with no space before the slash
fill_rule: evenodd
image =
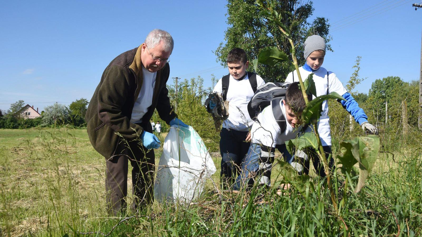
<path id="1" fill-rule="evenodd" d="M 142 122 L 143 115 L 148 112 L 149 106 L 152 105 L 152 94 L 154 93 L 157 72 L 151 73 L 142 67 L 142 75 L 143 81 L 141 91 L 135 101 L 135 105 L 133 105 L 132 117 L 130 118 L 130 122 L 132 123 Z"/>

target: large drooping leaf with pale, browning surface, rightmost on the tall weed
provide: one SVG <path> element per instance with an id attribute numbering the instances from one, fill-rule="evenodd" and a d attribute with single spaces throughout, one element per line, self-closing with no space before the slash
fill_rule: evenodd
<path id="1" fill-rule="evenodd" d="M 352 170 L 354 164 L 359 163 L 359 181 L 355 193 L 359 192 L 365 184 L 365 180 L 371 172 L 379 151 L 379 137 L 368 135 L 366 137 L 355 137 L 353 140 L 346 140 L 340 143 L 340 151 L 343 156 L 338 156 L 342 164 L 341 170 L 345 173 Z"/>

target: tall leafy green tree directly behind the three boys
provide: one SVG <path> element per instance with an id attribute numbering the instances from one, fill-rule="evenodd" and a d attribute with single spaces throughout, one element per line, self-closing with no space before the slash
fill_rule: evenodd
<path id="1" fill-rule="evenodd" d="M 328 35 L 328 20 L 317 17 L 312 23 L 308 18 L 312 15 L 314 8 L 312 2 L 300 5 L 296 0 L 273 1 L 271 7 L 281 13 L 281 22 L 289 26 L 290 35 L 296 47 L 299 65 L 305 63 L 303 58 L 303 43 L 309 35 L 321 35 L 326 41 L 330 41 Z M 250 62 L 257 58 L 259 51 L 266 46 L 276 46 L 289 55 L 289 41 L 282 35 L 279 28 L 272 22 L 268 22 L 259 17 L 260 10 L 254 0 L 228 0 L 227 23 L 230 25 L 225 31 L 225 42 L 220 43 L 214 53 L 217 62 L 226 66 L 228 52 L 235 48 L 243 48 L 246 51 Z M 329 44 L 327 49 L 331 50 Z M 252 63 L 249 64 L 252 70 Z M 284 81 L 287 74 L 295 67 L 290 62 L 281 62 L 278 66 L 260 65 L 257 73 L 265 81 Z"/>

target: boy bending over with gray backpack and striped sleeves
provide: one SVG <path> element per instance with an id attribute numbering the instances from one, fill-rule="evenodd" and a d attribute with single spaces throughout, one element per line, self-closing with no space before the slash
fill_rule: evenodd
<path id="1" fill-rule="evenodd" d="M 285 142 L 294 139 L 302 129 L 300 116 L 305 108 L 305 100 L 299 83 L 291 83 L 286 91 L 284 100 L 280 100 L 279 108 L 284 115 L 285 129 L 276 121 L 273 106 L 268 105 L 257 116 L 252 125 L 252 143 L 249 147 L 247 159 L 242 163 L 242 172 L 238 176 L 235 189 L 240 189 L 247 184 L 252 186 L 254 181 L 270 186 L 271 168 L 274 161 L 276 148 L 281 152 L 286 162 L 291 163 L 292 155 L 289 154 Z M 273 103 L 276 100 L 273 100 Z M 256 179 L 254 179 L 256 178 Z"/>

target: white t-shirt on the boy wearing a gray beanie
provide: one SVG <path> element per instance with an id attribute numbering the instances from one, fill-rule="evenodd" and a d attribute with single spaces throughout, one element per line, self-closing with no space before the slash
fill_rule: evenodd
<path id="1" fill-rule="evenodd" d="M 339 95 L 343 95 L 347 92 L 340 80 L 333 72 L 328 72 L 328 84 L 327 84 L 327 69 L 324 67 L 319 67 L 318 70 L 314 72 L 309 72 L 303 67 L 299 67 L 299 72 L 302 77 L 302 80 L 306 80 L 309 74 L 314 73 L 314 82 L 317 89 L 317 97 L 323 94 L 337 92 Z M 287 75 L 286 82 L 293 82 L 293 73 L 295 81 L 299 81 L 298 73 L 295 71 L 290 72 Z M 313 96 L 315 98 L 315 96 Z M 318 121 L 318 133 L 321 138 L 322 145 L 331 145 L 331 134 L 330 134 L 330 118 L 328 117 L 328 104 L 327 100 L 322 102 L 322 113 Z"/>

